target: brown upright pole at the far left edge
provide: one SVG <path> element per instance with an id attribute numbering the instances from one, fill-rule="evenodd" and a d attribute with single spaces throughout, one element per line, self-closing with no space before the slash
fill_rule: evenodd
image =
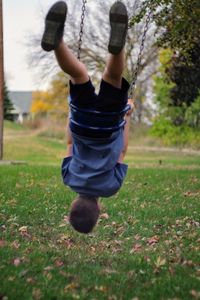
<path id="1" fill-rule="evenodd" d="M 0 0 L 0 160 L 3 159 L 3 102 L 4 102 L 4 63 L 3 63 L 3 7 Z"/>

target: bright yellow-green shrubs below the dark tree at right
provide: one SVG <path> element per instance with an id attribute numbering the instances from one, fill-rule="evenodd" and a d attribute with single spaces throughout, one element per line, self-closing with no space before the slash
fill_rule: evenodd
<path id="1" fill-rule="evenodd" d="M 171 93 L 177 86 L 165 72 L 171 68 L 170 51 L 162 50 L 159 58 L 160 73 L 154 77 L 154 101 L 158 105 L 158 116 L 150 132 L 161 138 L 165 145 L 200 147 L 200 96 L 190 106 L 184 101 L 175 105 Z"/>

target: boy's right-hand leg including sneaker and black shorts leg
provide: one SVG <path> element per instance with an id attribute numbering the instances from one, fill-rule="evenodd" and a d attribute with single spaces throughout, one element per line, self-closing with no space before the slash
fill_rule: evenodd
<path id="1" fill-rule="evenodd" d="M 96 110 L 117 112 L 126 106 L 129 89 L 129 83 L 122 77 L 128 14 L 126 6 L 120 1 L 116 1 L 110 9 L 110 26 L 110 53 L 100 85 Z"/>

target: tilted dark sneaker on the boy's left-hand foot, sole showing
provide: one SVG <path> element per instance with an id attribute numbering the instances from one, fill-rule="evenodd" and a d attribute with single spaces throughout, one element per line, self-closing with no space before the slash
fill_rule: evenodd
<path id="1" fill-rule="evenodd" d="M 45 18 L 45 29 L 41 46 L 45 51 L 55 50 L 63 37 L 64 24 L 67 15 L 67 4 L 56 2 L 48 11 Z"/>

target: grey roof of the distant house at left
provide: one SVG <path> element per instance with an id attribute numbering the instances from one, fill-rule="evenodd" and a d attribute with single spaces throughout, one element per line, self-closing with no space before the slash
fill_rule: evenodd
<path id="1" fill-rule="evenodd" d="M 21 113 L 30 113 L 32 104 L 31 91 L 10 91 L 8 95 L 17 110 L 20 110 Z"/>

